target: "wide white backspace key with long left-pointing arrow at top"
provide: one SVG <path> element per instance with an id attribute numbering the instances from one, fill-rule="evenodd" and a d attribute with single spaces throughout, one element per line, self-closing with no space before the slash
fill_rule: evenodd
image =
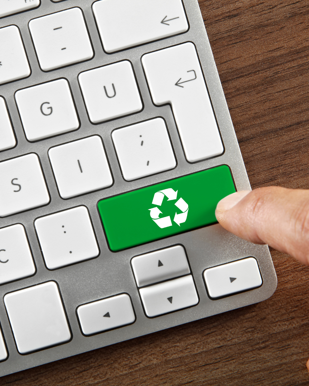
<path id="1" fill-rule="evenodd" d="M 188 29 L 181 0 L 100 0 L 93 3 L 92 9 L 106 52 L 180 34 Z"/>

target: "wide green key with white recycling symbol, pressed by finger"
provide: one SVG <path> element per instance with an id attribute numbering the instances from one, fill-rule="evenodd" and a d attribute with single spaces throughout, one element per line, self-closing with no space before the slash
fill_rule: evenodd
<path id="1" fill-rule="evenodd" d="M 112 251 L 216 222 L 221 198 L 234 193 L 228 166 L 189 174 L 98 202 Z"/>

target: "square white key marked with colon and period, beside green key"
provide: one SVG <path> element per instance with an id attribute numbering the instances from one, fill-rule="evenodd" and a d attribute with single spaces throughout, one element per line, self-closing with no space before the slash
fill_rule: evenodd
<path id="1" fill-rule="evenodd" d="M 48 269 L 92 259 L 99 254 L 90 216 L 84 206 L 37 218 L 34 226 Z"/>

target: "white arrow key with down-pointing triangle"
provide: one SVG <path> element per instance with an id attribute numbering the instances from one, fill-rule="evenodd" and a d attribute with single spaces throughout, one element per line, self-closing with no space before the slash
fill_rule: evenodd
<path id="1" fill-rule="evenodd" d="M 146 315 L 155 317 L 199 302 L 192 275 L 139 290 Z"/>

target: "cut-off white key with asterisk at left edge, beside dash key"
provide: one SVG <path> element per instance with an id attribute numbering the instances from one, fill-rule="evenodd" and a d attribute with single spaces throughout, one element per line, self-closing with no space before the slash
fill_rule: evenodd
<path id="1" fill-rule="evenodd" d="M 31 70 L 16 25 L 0 28 L 0 85 L 27 78 Z"/>

